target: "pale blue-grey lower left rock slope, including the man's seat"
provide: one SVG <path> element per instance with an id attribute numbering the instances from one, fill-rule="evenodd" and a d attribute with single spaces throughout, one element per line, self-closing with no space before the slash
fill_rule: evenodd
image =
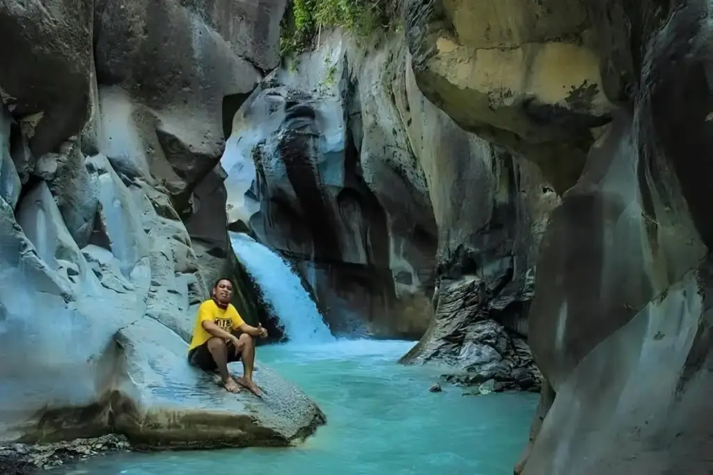
<path id="1" fill-rule="evenodd" d="M 0 201 L 0 440 L 118 432 L 140 447 L 244 447 L 312 434 L 324 414 L 261 363 L 263 400 L 229 395 L 188 365 L 190 287 L 206 295 L 188 232 L 165 217 L 177 216 L 165 194 L 102 155 L 87 165 L 100 207 L 83 249 L 46 182 L 24 194 L 18 221 Z"/>

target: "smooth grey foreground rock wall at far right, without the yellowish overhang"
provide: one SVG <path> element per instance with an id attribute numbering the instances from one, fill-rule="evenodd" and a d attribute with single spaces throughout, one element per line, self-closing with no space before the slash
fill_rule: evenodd
<path id="1" fill-rule="evenodd" d="M 707 474 L 709 5 L 583 3 L 620 109 L 543 239 L 530 344 L 551 394 L 518 470 Z"/>

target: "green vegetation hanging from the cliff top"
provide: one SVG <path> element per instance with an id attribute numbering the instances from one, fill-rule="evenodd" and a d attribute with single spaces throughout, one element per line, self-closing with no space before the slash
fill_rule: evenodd
<path id="1" fill-rule="evenodd" d="M 369 36 L 391 25 L 399 3 L 399 0 L 293 0 L 280 25 L 280 53 L 309 48 L 320 28 L 343 28 L 357 36 Z"/>

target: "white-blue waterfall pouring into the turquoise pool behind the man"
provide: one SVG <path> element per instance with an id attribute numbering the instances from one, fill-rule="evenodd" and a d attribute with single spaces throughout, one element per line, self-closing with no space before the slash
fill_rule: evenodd
<path id="1" fill-rule="evenodd" d="M 280 256 L 246 234 L 230 232 L 235 256 L 262 289 L 292 343 L 334 341 L 302 281 Z"/>

